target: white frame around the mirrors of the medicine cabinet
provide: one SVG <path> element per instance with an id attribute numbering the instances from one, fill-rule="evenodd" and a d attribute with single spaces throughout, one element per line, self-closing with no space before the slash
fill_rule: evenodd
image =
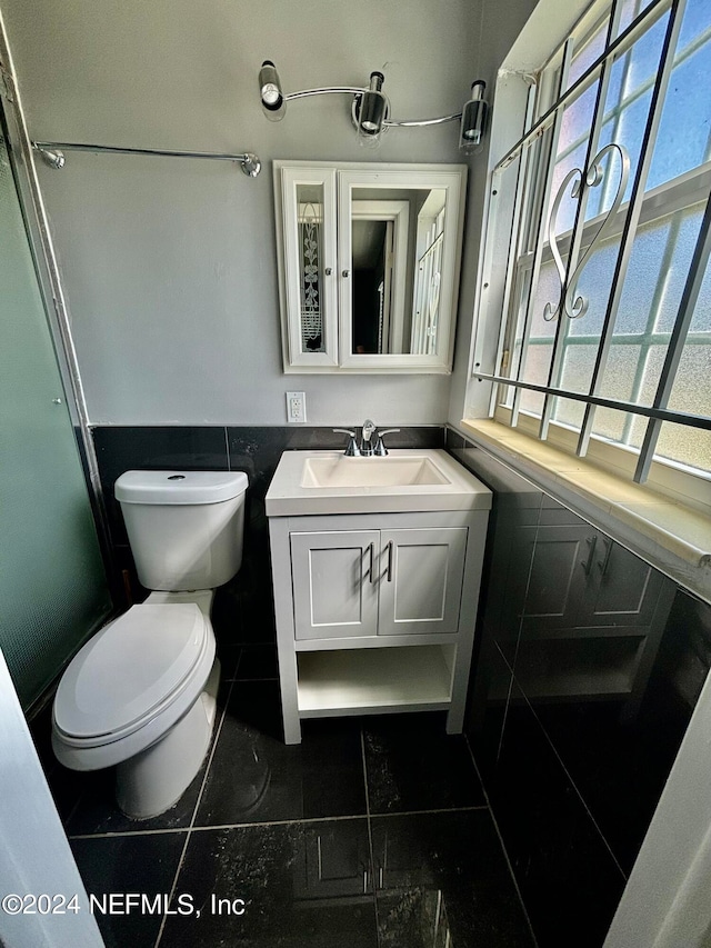
<path id="1" fill-rule="evenodd" d="M 274 161 L 273 169 L 284 372 L 451 372 L 467 167 L 463 164 L 361 164 L 357 162 L 334 164 L 318 161 Z M 321 231 L 323 286 L 319 288 L 326 339 L 322 352 L 303 352 L 301 343 L 299 210 L 296 191 L 300 183 L 323 187 Z M 392 200 L 391 194 L 398 191 L 442 189 L 445 192 L 438 332 L 434 350 L 429 355 L 352 352 L 351 201 L 354 188 L 368 189 L 369 200 L 375 203 L 382 203 L 372 197 L 378 191 L 383 192 L 383 200 Z M 360 203 L 358 197 L 356 197 L 356 203 Z M 398 229 L 398 220 L 394 220 Z M 410 230 L 412 230 L 411 224 L 412 221 L 410 221 Z M 404 241 L 400 240 L 397 243 L 400 245 L 400 250 L 395 250 L 395 255 L 403 255 Z M 408 251 L 410 249 L 408 247 Z M 330 272 L 327 273 L 327 271 Z M 404 341 L 407 316 L 404 307 L 409 297 L 404 286 L 403 267 L 395 268 L 394 273 L 393 312 L 397 312 L 395 307 L 402 303 Z"/>

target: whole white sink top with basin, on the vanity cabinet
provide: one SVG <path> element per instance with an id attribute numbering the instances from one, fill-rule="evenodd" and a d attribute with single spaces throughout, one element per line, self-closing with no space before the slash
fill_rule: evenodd
<path id="1" fill-rule="evenodd" d="M 284 451 L 266 506 L 268 517 L 489 510 L 491 491 L 438 449 L 394 449 L 385 458 Z"/>

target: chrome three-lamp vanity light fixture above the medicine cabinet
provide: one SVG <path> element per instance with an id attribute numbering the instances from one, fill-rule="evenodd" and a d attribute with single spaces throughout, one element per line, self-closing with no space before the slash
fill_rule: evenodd
<path id="1" fill-rule="evenodd" d="M 319 89 L 302 89 L 300 92 L 284 93 L 277 67 L 266 59 L 259 71 L 259 93 L 264 116 L 272 122 L 281 121 L 287 111 L 287 102 L 306 99 L 310 96 L 331 93 L 352 96 L 351 118 L 358 129 L 361 144 L 375 144 L 380 134 L 389 128 L 424 128 L 443 122 L 460 121 L 459 147 L 467 153 L 477 150 L 485 133 L 488 106 L 483 99 L 487 83 L 478 79 L 472 84 L 471 99 L 461 112 L 441 116 L 437 119 L 421 119 L 395 122 L 390 116 L 390 102 L 382 91 L 385 81 L 382 72 L 371 72 L 367 88 L 357 86 L 330 86 Z"/>

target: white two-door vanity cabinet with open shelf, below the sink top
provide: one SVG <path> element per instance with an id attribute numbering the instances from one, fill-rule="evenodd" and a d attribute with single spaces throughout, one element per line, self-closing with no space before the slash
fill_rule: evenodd
<path id="1" fill-rule="evenodd" d="M 284 740 L 301 719 L 462 729 L 488 509 L 270 517 Z"/>

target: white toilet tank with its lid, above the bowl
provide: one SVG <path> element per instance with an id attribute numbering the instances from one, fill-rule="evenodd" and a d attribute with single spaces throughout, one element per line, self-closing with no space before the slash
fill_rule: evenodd
<path id="1" fill-rule="evenodd" d="M 116 482 L 147 589 L 212 589 L 242 563 L 242 471 L 126 471 Z"/>

